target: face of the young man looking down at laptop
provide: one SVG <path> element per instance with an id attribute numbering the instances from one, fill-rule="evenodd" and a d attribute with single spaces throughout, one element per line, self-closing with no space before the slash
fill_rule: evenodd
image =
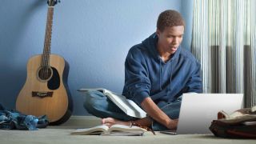
<path id="1" fill-rule="evenodd" d="M 174 54 L 182 43 L 184 26 L 166 27 L 163 31 L 157 30 L 158 49 Z"/>

